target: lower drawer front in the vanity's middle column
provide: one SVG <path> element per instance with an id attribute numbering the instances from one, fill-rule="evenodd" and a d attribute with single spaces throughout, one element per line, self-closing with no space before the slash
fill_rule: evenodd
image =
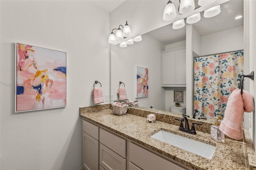
<path id="1" fill-rule="evenodd" d="M 126 159 L 100 143 L 100 166 L 105 170 L 126 170 Z"/>

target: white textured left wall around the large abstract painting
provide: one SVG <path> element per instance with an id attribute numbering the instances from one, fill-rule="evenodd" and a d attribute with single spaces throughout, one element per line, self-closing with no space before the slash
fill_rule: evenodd
<path id="1" fill-rule="evenodd" d="M 0 169 L 82 167 L 79 107 L 109 91 L 109 13 L 88 1 L 0 1 Z M 67 106 L 14 113 L 15 43 L 67 53 Z M 108 103 L 108 102 L 107 102 Z"/>

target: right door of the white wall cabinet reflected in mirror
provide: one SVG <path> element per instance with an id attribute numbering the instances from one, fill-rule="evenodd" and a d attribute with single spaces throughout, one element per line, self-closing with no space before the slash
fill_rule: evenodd
<path id="1" fill-rule="evenodd" d="M 175 52 L 175 84 L 186 84 L 186 48 Z"/>

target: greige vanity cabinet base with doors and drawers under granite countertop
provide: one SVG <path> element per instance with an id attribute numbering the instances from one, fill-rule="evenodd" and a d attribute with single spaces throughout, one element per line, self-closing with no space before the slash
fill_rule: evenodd
<path id="1" fill-rule="evenodd" d="M 82 143 L 84 170 L 186 169 L 87 120 Z"/>

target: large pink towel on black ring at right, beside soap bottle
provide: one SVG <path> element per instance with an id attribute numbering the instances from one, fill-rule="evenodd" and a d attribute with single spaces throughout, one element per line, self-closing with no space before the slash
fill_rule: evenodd
<path id="1" fill-rule="evenodd" d="M 251 112 L 254 110 L 253 96 L 241 89 L 235 89 L 228 98 L 224 119 L 220 123 L 220 130 L 232 139 L 243 139 L 242 122 L 244 111 Z"/>

